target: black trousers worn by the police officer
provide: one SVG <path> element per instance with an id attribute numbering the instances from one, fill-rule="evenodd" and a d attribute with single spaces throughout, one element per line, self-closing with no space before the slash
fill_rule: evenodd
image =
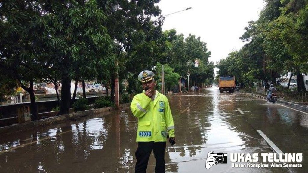
<path id="1" fill-rule="evenodd" d="M 166 142 L 138 142 L 138 148 L 135 153 L 137 163 L 136 173 L 145 173 L 148 167 L 148 161 L 153 150 L 156 159 L 155 172 L 165 172 L 165 149 Z"/>

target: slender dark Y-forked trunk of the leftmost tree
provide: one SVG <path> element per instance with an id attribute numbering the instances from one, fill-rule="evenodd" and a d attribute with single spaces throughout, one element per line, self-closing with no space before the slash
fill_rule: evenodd
<path id="1" fill-rule="evenodd" d="M 20 82 L 20 86 L 22 87 L 22 89 L 26 90 L 29 95 L 30 95 L 30 113 L 31 113 L 31 120 L 38 120 L 38 107 L 37 104 L 35 102 L 35 95 L 34 95 L 34 90 L 33 90 L 33 80 L 30 80 L 30 87 L 26 87 L 24 86 L 21 81 Z"/>

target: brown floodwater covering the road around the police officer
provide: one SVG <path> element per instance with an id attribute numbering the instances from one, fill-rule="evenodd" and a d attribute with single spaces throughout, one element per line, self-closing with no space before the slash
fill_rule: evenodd
<path id="1" fill-rule="evenodd" d="M 166 172 L 306 172 L 308 114 L 217 87 L 168 97 L 176 145 L 167 144 Z M 134 172 L 137 119 L 129 106 L 0 136 L 0 172 Z M 301 168 L 231 167 L 232 153 L 273 153 L 262 131 L 283 153 L 303 153 Z M 228 164 L 205 169 L 210 151 Z M 237 164 L 240 164 L 236 162 Z M 266 162 L 269 163 L 269 162 Z M 246 163 L 243 163 L 246 164 Z M 265 164 L 262 157 L 254 164 Z M 154 172 L 152 155 L 148 171 Z"/>

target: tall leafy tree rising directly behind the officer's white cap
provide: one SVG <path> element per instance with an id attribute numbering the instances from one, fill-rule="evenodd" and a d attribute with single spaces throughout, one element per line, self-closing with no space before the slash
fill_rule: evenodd
<path id="1" fill-rule="evenodd" d="M 160 9 L 154 1 L 128 1 L 111 0 L 99 1 L 99 6 L 106 12 L 106 27 L 113 42 L 115 49 L 112 51 L 112 57 L 115 61 L 110 64 L 111 80 L 108 80 L 111 86 L 111 96 L 114 99 L 114 80 L 119 72 L 120 56 L 125 50 L 127 60 L 126 71 L 123 74 L 132 73 L 135 77 L 142 69 L 153 66 L 151 63 L 155 54 L 156 40 L 161 33 L 162 18 L 152 20 L 153 17 L 160 15 Z M 147 61 L 143 63 L 144 61 Z M 136 62 L 139 62 L 136 64 Z M 135 66 L 132 66 L 135 64 Z M 123 68 L 122 68 L 123 69 Z M 122 72 L 122 71 L 121 71 Z M 134 82 L 130 82 L 133 84 Z M 136 86 L 132 86 L 133 88 Z"/>

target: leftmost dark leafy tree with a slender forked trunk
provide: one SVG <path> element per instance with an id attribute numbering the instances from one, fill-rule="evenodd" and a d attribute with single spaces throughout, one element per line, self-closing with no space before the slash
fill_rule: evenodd
<path id="1" fill-rule="evenodd" d="M 44 79 L 46 67 L 50 65 L 48 48 L 42 30 L 41 4 L 38 1 L 5 1 L 0 4 L 0 56 L 18 84 L 30 94 L 32 119 L 38 119 L 35 103 L 34 82 Z"/>

